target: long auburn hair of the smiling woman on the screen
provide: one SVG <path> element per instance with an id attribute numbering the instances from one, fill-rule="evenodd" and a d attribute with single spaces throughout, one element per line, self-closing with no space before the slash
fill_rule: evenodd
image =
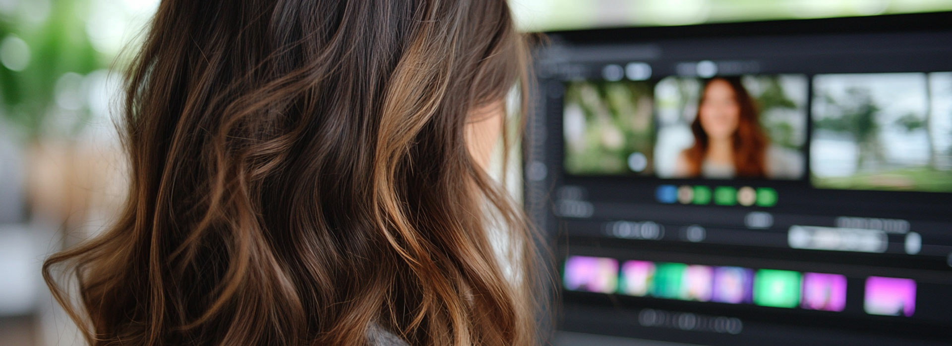
<path id="1" fill-rule="evenodd" d="M 760 112 L 757 110 L 754 99 L 747 92 L 744 84 L 741 83 L 740 77 L 716 77 L 704 82 L 704 87 L 701 88 L 701 99 L 698 102 L 698 114 L 694 117 L 694 122 L 691 123 L 694 144 L 684 150 L 688 163 L 688 176 L 701 176 L 704 156 L 707 155 L 708 137 L 701 125 L 701 104 L 704 103 L 704 91 L 714 81 L 724 81 L 730 85 L 730 88 L 734 90 L 735 101 L 741 112 L 737 131 L 733 135 L 735 176 L 738 178 L 765 178 L 768 141 L 763 128 L 761 128 Z"/>

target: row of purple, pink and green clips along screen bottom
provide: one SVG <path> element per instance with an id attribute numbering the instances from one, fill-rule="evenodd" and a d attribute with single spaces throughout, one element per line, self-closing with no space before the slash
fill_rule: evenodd
<path id="1" fill-rule="evenodd" d="M 564 269 L 565 289 L 577 292 L 828 312 L 843 312 L 852 301 L 839 274 L 586 256 L 568 257 Z M 913 279 L 867 277 L 863 292 L 866 314 L 916 312 Z"/>

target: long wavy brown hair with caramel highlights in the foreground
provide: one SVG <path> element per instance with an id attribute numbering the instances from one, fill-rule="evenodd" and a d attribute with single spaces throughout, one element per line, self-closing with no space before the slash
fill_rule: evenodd
<path id="1" fill-rule="evenodd" d="M 128 202 L 45 278 L 92 345 L 535 343 L 531 232 L 465 138 L 526 55 L 504 0 L 163 0 Z"/>

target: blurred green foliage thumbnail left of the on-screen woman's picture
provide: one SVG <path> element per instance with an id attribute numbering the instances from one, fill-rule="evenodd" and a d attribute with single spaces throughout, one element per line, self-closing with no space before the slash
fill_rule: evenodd
<path id="1" fill-rule="evenodd" d="M 652 98 L 647 82 L 571 82 L 565 86 L 565 171 L 650 175 Z"/>

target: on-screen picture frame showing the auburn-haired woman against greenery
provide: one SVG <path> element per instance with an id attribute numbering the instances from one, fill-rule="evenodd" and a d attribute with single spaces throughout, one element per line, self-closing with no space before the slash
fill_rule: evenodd
<path id="1" fill-rule="evenodd" d="M 657 176 L 800 179 L 806 82 L 793 74 L 664 78 L 655 87 Z"/>

